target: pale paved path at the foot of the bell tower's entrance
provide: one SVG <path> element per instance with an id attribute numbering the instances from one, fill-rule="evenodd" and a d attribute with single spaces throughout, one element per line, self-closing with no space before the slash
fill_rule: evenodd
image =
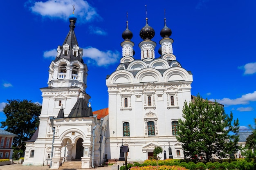
<path id="1" fill-rule="evenodd" d="M 111 166 L 93 168 L 93 170 L 111 170 L 111 169 L 112 169 Z M 50 168 L 48 166 L 22 166 L 22 164 L 12 164 L 12 165 L 0 166 L 0 170 L 50 170 Z M 85 170 L 85 169 L 76 169 L 76 170 Z"/>

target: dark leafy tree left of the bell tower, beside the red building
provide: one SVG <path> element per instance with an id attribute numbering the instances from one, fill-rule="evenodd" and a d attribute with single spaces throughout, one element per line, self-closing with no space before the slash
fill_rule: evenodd
<path id="1" fill-rule="evenodd" d="M 13 148 L 24 152 L 24 141 L 32 137 L 39 125 L 41 106 L 26 99 L 10 99 L 7 102 L 3 109 L 6 120 L 1 121 L 1 128 L 18 135 L 13 139 Z"/>

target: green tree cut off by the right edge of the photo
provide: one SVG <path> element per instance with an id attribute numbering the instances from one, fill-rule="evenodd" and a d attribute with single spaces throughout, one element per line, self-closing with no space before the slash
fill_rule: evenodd
<path id="1" fill-rule="evenodd" d="M 249 128 L 252 129 L 252 135 L 246 139 L 243 156 L 245 156 L 247 162 L 253 161 L 254 167 L 256 168 L 256 118 L 254 119 L 254 123 L 255 128 L 249 125 Z"/>

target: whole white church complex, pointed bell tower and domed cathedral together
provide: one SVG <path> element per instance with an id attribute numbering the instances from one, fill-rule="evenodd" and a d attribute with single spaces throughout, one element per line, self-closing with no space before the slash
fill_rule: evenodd
<path id="1" fill-rule="evenodd" d="M 70 31 L 49 65 L 48 87 L 40 89 L 40 125 L 26 141 L 23 165 L 58 169 L 63 163 L 80 161 L 81 168 L 94 168 L 109 159 L 123 161 L 123 148 L 128 148 L 128 162 L 144 161 L 156 146 L 164 150 L 162 159 L 183 159 L 175 135 L 184 102 L 191 101 L 193 76 L 173 55 L 166 19 L 155 57 L 156 42 L 151 40 L 155 31 L 146 18 L 139 33 L 139 60 L 133 56 L 127 21 L 120 64 L 106 78 L 108 108 L 94 112 L 86 93 L 88 68 L 74 33 L 74 12 L 69 20 Z"/>

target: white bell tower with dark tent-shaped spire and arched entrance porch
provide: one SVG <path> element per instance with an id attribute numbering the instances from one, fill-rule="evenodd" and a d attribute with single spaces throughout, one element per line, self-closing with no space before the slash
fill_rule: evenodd
<path id="1" fill-rule="evenodd" d="M 40 89 L 40 124 L 26 143 L 23 165 L 50 165 L 58 169 L 64 161 L 71 160 L 81 161 L 81 168 L 101 163 L 101 127 L 106 127 L 108 117 L 92 114 L 90 95 L 86 93 L 88 68 L 74 33 L 74 13 L 69 20 L 70 31 L 49 66 L 48 87 Z"/>

